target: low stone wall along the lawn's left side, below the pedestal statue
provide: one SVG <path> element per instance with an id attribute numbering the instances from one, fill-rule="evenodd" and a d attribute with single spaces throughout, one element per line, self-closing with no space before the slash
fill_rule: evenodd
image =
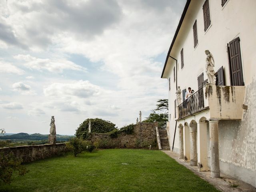
<path id="1" fill-rule="evenodd" d="M 65 151 L 67 151 L 65 143 L 0 148 L 0 153 L 12 152 L 14 156 L 21 158 L 23 163 L 57 156 Z"/>

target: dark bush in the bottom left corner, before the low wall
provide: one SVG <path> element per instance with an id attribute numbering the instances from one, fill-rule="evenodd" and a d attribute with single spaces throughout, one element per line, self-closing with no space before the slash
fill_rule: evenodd
<path id="1" fill-rule="evenodd" d="M 19 176 L 28 172 L 27 168 L 21 165 L 21 159 L 14 157 L 13 153 L 4 155 L 0 154 L 0 184 L 10 184 L 12 181 L 12 173 L 18 171 Z"/>

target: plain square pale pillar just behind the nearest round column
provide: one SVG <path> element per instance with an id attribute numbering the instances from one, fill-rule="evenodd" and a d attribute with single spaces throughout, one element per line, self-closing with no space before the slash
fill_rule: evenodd
<path id="1" fill-rule="evenodd" d="M 198 171 L 208 171 L 207 163 L 207 123 L 200 122 L 197 126 Z"/>

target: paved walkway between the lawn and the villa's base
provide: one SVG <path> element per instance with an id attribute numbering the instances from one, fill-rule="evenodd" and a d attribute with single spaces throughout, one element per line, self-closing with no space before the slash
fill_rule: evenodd
<path id="1" fill-rule="evenodd" d="M 232 178 L 230 176 L 224 175 L 220 173 L 221 178 L 210 178 L 210 171 L 198 171 L 197 166 L 190 166 L 190 162 L 184 162 L 183 160 L 178 158 L 178 154 L 170 151 L 170 150 L 162 150 L 162 152 L 166 153 L 168 156 L 176 160 L 179 164 L 184 165 L 186 168 L 190 169 L 192 172 L 194 172 L 196 175 L 198 175 L 200 178 L 206 180 L 210 184 L 212 184 L 214 187 L 216 187 L 218 190 L 223 192 L 256 192 L 256 189 L 246 184 L 245 182 L 242 182 L 240 180 L 237 180 L 235 178 Z M 233 185 L 233 187 L 232 187 Z M 235 186 L 235 187 L 234 187 Z"/>

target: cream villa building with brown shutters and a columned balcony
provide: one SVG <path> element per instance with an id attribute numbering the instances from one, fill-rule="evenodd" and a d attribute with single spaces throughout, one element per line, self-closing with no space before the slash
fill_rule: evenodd
<path id="1" fill-rule="evenodd" d="M 170 148 L 198 166 L 256 180 L 256 0 L 187 0 L 161 78 Z M 211 53 L 216 84 L 206 74 Z M 180 87 L 181 102 L 176 91 Z M 188 87 L 194 94 L 185 98 Z"/>

